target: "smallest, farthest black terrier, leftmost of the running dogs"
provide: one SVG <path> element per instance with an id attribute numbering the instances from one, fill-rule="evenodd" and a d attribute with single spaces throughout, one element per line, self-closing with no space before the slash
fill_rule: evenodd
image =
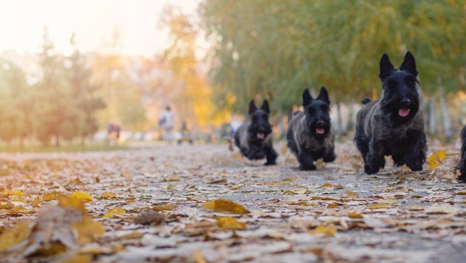
<path id="1" fill-rule="evenodd" d="M 273 150 L 272 127 L 269 124 L 269 102 L 264 100 L 260 109 L 254 100 L 249 103 L 249 116 L 234 134 L 234 143 L 249 160 L 267 157 L 265 165 L 275 165 L 278 154 Z"/>

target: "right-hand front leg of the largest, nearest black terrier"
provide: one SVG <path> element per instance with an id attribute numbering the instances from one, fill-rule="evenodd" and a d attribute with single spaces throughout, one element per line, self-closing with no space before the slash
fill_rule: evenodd
<path id="1" fill-rule="evenodd" d="M 406 166 L 412 171 L 420 171 L 422 164 L 426 161 L 426 135 L 420 131 L 413 135 L 412 138 L 413 141 L 410 143 L 410 148 L 404 156 L 404 160 L 406 161 Z"/>

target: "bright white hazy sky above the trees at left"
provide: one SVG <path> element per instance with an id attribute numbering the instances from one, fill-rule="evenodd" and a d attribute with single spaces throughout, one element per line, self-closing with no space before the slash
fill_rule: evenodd
<path id="1" fill-rule="evenodd" d="M 56 49 L 71 52 L 75 32 L 81 51 L 105 51 L 119 29 L 119 53 L 152 55 L 167 45 L 158 27 L 165 5 L 195 12 L 199 0 L 0 0 L 0 51 L 38 52 L 43 28 Z"/>

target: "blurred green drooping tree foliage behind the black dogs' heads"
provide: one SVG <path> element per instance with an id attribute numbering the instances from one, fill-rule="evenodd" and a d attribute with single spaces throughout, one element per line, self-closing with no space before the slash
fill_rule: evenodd
<path id="1" fill-rule="evenodd" d="M 214 41 L 217 100 L 244 112 L 258 96 L 273 109 L 300 104 L 305 87 L 326 85 L 333 100 L 359 101 L 380 87 L 383 53 L 415 54 L 421 85 L 465 89 L 466 1 L 228 1 L 200 8 Z"/>

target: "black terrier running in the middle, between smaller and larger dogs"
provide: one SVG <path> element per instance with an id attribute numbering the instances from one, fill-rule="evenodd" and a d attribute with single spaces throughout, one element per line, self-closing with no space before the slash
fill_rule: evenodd
<path id="1" fill-rule="evenodd" d="M 294 113 L 286 133 L 288 148 L 299 161 L 299 169 L 315 170 L 314 161 L 335 160 L 335 134 L 330 124 L 330 100 L 325 87 L 321 87 L 317 99 L 312 98 L 309 89 L 303 93 L 303 111 Z"/>

